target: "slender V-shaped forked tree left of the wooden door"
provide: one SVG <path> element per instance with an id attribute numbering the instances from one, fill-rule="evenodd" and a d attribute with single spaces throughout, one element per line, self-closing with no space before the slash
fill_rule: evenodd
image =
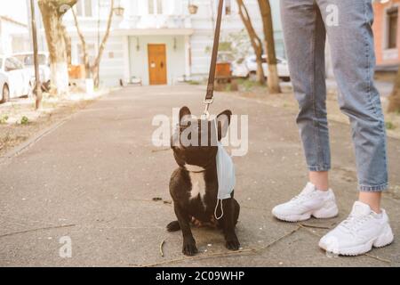
<path id="1" fill-rule="evenodd" d="M 106 44 L 108 41 L 108 37 L 109 37 L 109 32 L 111 29 L 111 24 L 113 21 L 113 15 L 114 15 L 114 0 L 110 0 L 110 10 L 108 13 L 108 21 L 107 21 L 107 28 L 106 28 L 106 33 L 104 34 L 104 37 L 101 41 L 101 44 L 99 46 L 99 51 L 97 53 L 96 58 L 94 59 L 94 61 L 91 62 L 89 61 L 89 54 L 87 53 L 87 48 L 86 48 L 86 41 L 84 39 L 84 33 L 82 32 L 82 29 L 79 27 L 79 23 L 77 21 L 77 17 L 76 17 L 76 12 L 74 11 L 74 9 L 72 10 L 72 14 L 74 16 L 74 21 L 75 21 L 75 26 L 76 26 L 76 32 L 79 36 L 79 39 L 81 41 L 81 45 L 82 45 L 82 53 L 83 53 L 83 60 L 84 60 L 84 69 L 85 69 L 85 73 L 86 73 L 86 78 L 93 78 L 93 83 L 94 86 L 96 88 L 99 87 L 100 85 L 100 61 L 101 61 L 101 57 L 104 53 L 104 49 L 106 48 Z"/>

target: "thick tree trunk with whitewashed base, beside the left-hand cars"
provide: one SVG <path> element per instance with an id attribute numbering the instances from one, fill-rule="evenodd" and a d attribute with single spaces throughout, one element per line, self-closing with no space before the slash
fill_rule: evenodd
<path id="1" fill-rule="evenodd" d="M 39 0 L 46 42 L 50 53 L 51 93 L 68 94 L 68 45 L 62 16 L 77 0 Z"/>

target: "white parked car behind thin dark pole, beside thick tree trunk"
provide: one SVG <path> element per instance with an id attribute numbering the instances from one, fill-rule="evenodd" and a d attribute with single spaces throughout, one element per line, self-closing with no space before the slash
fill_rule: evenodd
<path id="1" fill-rule="evenodd" d="M 35 85 L 34 53 L 15 53 L 13 56 L 23 62 L 30 76 L 33 78 L 32 85 Z M 48 90 L 50 88 L 51 76 L 49 53 L 39 52 L 38 59 L 40 83 L 42 84 L 43 90 Z"/>

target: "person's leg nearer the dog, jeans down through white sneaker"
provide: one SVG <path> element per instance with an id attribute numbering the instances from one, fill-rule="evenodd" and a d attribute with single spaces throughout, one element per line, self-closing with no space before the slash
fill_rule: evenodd
<path id="1" fill-rule="evenodd" d="M 290 222 L 310 216 L 329 218 L 338 214 L 338 208 L 332 190 L 328 190 L 331 154 L 325 104 L 324 21 L 314 0 L 281 0 L 281 12 L 310 183 L 300 195 L 273 208 L 272 214 Z"/>

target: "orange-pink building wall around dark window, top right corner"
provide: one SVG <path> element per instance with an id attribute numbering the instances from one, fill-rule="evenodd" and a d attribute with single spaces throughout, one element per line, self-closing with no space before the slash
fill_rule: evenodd
<path id="1" fill-rule="evenodd" d="M 373 4 L 375 20 L 372 28 L 378 69 L 400 64 L 400 18 L 397 25 L 397 47 L 396 49 L 387 48 L 388 22 L 386 15 L 388 8 L 391 7 L 400 7 L 400 0 L 392 0 L 386 4 Z"/>

